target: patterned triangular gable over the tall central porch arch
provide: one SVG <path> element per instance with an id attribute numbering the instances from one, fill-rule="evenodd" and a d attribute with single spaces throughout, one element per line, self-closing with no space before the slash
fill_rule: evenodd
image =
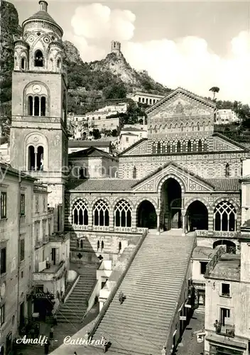
<path id="1" fill-rule="evenodd" d="M 175 163 L 168 163 L 155 172 L 136 182 L 132 187 L 133 191 L 158 192 L 161 183 L 168 178 L 174 178 L 180 182 L 185 192 L 209 192 L 214 191 L 215 187 L 210 182 L 190 173 L 188 170 L 180 168 Z"/>

